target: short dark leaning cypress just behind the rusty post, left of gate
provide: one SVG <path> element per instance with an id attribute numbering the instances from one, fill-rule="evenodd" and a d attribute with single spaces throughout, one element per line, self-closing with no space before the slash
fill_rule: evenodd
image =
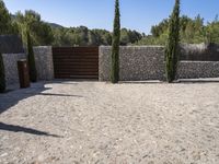
<path id="1" fill-rule="evenodd" d="M 31 82 L 36 82 L 37 72 L 36 72 L 36 66 L 35 66 L 35 57 L 34 57 L 32 38 L 28 31 L 26 32 L 26 38 L 27 38 L 27 52 L 28 52 L 27 58 L 28 58 L 30 80 Z"/>

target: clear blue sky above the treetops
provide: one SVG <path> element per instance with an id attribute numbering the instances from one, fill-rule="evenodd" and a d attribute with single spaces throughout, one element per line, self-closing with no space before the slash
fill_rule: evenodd
<path id="1" fill-rule="evenodd" d="M 11 13 L 35 10 L 47 22 L 64 26 L 85 25 L 90 28 L 112 31 L 114 0 L 4 0 Z M 205 21 L 219 14 L 219 0 L 182 0 L 182 14 L 195 17 L 198 13 Z M 122 26 L 150 32 L 151 25 L 168 17 L 174 0 L 120 0 Z"/>

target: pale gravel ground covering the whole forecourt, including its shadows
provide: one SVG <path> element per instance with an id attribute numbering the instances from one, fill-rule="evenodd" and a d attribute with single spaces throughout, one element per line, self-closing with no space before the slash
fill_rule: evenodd
<path id="1" fill-rule="evenodd" d="M 36 83 L 0 95 L 1 164 L 218 164 L 219 83 Z"/>

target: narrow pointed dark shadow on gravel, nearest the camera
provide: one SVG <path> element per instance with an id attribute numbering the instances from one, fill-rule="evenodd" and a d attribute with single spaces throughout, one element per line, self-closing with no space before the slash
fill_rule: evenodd
<path id="1" fill-rule="evenodd" d="M 35 130 L 32 128 L 25 128 L 25 127 L 21 127 L 21 126 L 7 125 L 3 122 L 0 122 L 0 130 L 12 131 L 12 132 L 24 132 L 24 133 L 30 133 L 30 134 L 46 136 L 46 137 L 54 137 L 54 138 L 62 138 L 61 136 L 51 134 L 51 133 L 48 133 L 45 131 L 39 131 L 39 130 Z"/>

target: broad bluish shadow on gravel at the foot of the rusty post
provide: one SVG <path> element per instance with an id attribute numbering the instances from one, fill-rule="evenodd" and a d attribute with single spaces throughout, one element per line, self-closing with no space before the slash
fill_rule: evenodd
<path id="1" fill-rule="evenodd" d="M 67 81 L 55 81 L 55 82 L 38 82 L 33 83 L 28 89 L 16 90 L 8 92 L 5 94 L 0 94 L 0 115 L 8 110 L 10 107 L 16 105 L 20 101 L 35 96 L 59 96 L 59 97 L 82 97 L 79 95 L 69 95 L 62 93 L 45 93 L 45 91 L 51 90 L 51 87 L 45 87 L 46 84 L 71 84 L 76 85 L 77 83 L 68 83 Z"/>

